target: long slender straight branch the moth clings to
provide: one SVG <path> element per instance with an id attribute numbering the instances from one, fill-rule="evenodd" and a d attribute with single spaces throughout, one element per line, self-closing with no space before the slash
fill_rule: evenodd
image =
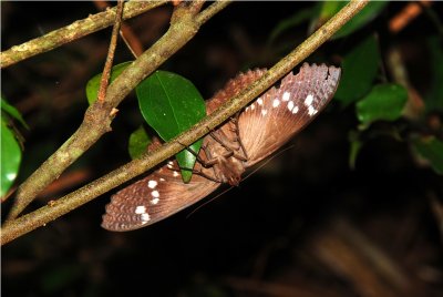
<path id="1" fill-rule="evenodd" d="M 367 3 L 368 1 L 352 0 L 303 43 L 297 47 L 291 53 L 265 73 L 264 76 L 251 86 L 226 102 L 209 116 L 205 117 L 189 131 L 181 134 L 175 140 L 165 143 L 158 150 L 144 154 L 141 158 L 127 163 L 91 184 L 68 194 L 59 201 L 51 203 L 51 205 L 43 206 L 40 209 L 10 222 L 2 228 L 1 245 L 50 223 L 51 221 L 106 193 L 115 186 L 144 173 L 156 164 L 182 151 L 183 144 L 190 145 L 196 140 L 203 137 L 207 131 L 215 129 L 229 116 L 234 115 L 237 111 L 253 101 L 258 94 L 272 85 L 279 78 L 282 78 L 299 62 L 305 60 L 310 53 L 316 51 L 344 23 L 363 9 Z"/>

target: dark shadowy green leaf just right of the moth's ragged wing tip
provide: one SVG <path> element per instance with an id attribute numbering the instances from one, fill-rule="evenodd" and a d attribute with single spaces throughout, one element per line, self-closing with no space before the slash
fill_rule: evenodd
<path id="1" fill-rule="evenodd" d="M 343 59 L 336 99 L 343 106 L 361 99 L 372 86 L 379 68 L 380 52 L 375 37 L 357 44 Z"/>

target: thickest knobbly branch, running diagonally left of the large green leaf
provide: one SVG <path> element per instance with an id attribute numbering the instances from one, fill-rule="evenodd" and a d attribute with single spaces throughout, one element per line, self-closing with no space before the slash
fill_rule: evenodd
<path id="1" fill-rule="evenodd" d="M 228 1 L 219 1 L 213 6 L 226 7 Z M 107 88 L 103 102 L 96 101 L 84 115 L 78 131 L 54 152 L 34 173 L 24 181 L 17 191 L 14 205 L 8 221 L 16 218 L 52 181 L 78 160 L 104 133 L 111 131 L 113 111 L 120 102 L 148 74 L 186 44 L 198 31 L 204 21 L 196 21 L 197 8 L 202 2 L 179 6 L 174 10 L 169 30 Z M 217 10 L 213 10 L 217 11 Z"/>

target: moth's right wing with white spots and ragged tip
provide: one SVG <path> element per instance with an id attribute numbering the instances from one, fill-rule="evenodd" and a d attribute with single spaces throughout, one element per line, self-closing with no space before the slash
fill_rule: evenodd
<path id="1" fill-rule="evenodd" d="M 305 63 L 248 105 L 238 119 L 238 130 L 253 166 L 281 147 L 303 129 L 332 99 L 340 69 Z"/>

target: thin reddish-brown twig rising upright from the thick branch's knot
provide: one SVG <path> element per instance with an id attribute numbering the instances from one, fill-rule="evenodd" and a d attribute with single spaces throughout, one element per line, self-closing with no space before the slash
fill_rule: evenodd
<path id="1" fill-rule="evenodd" d="M 124 1 L 119 0 L 117 11 L 115 14 L 115 23 L 114 28 L 112 29 L 111 43 L 106 57 L 106 63 L 104 64 L 102 79 L 100 80 L 97 101 L 101 103 L 104 102 L 104 98 L 106 96 L 107 84 L 110 83 L 111 70 L 115 55 L 115 48 L 117 47 L 119 32 L 120 28 L 122 27 L 123 8 L 124 8 Z"/>

